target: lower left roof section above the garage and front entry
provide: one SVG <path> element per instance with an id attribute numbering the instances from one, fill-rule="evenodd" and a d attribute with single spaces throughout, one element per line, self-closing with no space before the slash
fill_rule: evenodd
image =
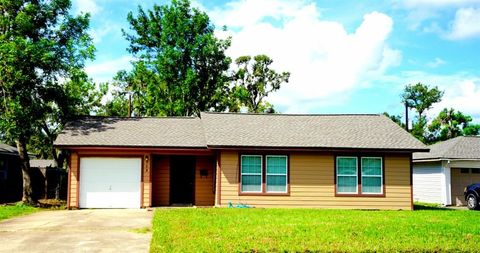
<path id="1" fill-rule="evenodd" d="M 199 118 L 84 117 L 67 124 L 56 146 L 205 148 Z"/>

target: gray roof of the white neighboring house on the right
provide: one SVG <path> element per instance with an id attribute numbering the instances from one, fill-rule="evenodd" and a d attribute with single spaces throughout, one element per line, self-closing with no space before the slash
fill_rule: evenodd
<path id="1" fill-rule="evenodd" d="M 460 136 L 429 146 L 428 153 L 414 153 L 413 160 L 480 159 L 480 137 Z"/>

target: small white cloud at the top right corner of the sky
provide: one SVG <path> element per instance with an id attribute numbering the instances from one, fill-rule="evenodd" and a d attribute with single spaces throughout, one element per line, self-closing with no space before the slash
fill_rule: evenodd
<path id="1" fill-rule="evenodd" d="M 447 38 L 458 40 L 480 36 L 480 8 L 460 8 L 455 13 Z"/>

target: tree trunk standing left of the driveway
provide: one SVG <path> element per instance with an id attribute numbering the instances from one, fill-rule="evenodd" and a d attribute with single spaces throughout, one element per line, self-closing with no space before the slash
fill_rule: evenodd
<path id="1" fill-rule="evenodd" d="M 32 181 L 30 178 L 30 159 L 28 157 L 27 142 L 25 138 L 17 141 L 18 155 L 20 156 L 20 168 L 23 175 L 23 197 L 22 202 L 29 205 L 37 204 L 33 197 Z"/>

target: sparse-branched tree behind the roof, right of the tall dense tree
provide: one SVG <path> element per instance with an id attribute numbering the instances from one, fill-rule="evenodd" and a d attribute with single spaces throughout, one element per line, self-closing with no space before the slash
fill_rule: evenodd
<path id="1" fill-rule="evenodd" d="M 282 83 L 288 83 L 290 73 L 271 69 L 273 60 L 267 55 L 257 55 L 253 61 L 250 56 L 241 56 L 235 63 L 238 69 L 233 75 L 230 111 L 239 111 L 245 106 L 249 112 L 275 112 L 265 98 L 280 89 Z"/>

